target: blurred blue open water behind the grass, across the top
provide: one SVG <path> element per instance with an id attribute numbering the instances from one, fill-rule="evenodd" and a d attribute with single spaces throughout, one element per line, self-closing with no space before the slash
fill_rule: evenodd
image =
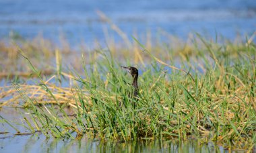
<path id="1" fill-rule="evenodd" d="M 232 40 L 256 30 L 255 0 L 0 0 L 0 38 L 15 32 L 28 39 L 41 34 L 57 42 L 63 34 L 72 45 L 94 40 L 104 43 L 104 29 L 108 29 L 115 40 L 121 40 L 96 10 L 129 38 L 149 31 L 155 38 L 162 30 L 180 38 L 191 32 L 214 38 L 217 32 Z"/>

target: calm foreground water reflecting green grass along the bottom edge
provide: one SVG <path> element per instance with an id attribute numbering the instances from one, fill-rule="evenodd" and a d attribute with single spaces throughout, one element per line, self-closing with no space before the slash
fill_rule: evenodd
<path id="1" fill-rule="evenodd" d="M 84 136 L 80 140 L 45 138 L 42 134 L 32 136 L 0 135 L 0 152 L 228 152 L 214 143 L 201 144 L 199 140 L 103 141 Z M 243 152 L 246 150 L 233 150 Z"/>

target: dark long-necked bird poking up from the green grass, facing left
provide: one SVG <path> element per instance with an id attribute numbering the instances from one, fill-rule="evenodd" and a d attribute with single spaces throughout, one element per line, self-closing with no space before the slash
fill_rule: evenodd
<path id="1" fill-rule="evenodd" d="M 131 74 L 131 77 L 133 78 L 133 82 L 132 82 L 131 85 L 134 88 L 133 98 L 137 99 L 137 96 L 138 96 L 138 93 L 139 93 L 139 88 L 138 88 L 138 85 L 137 85 L 137 80 L 138 80 L 138 77 L 139 77 L 139 70 L 137 68 L 133 67 L 133 66 L 121 66 L 121 67 L 124 68 L 125 70 L 127 70 Z"/>

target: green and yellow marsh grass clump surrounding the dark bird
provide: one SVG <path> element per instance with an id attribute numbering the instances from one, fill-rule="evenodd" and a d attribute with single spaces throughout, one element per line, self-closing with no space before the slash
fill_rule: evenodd
<path id="1" fill-rule="evenodd" d="M 64 53 L 55 50 L 50 55 L 55 57 L 53 74 L 48 77 L 36 66 L 45 58 L 34 62 L 24 46 L 16 46 L 16 56 L 22 57 L 36 79 L 32 79 L 32 85 L 13 82 L 1 87 L 0 97 L 9 99 L 0 107 L 22 105 L 29 113 L 24 118 L 26 129 L 40 131 L 46 137 L 79 138 L 88 134 L 128 141 L 187 140 L 193 135 L 226 146 L 253 148 L 253 41 L 219 44 L 197 34 L 182 47 L 163 44 L 147 48 L 133 40 L 133 52 L 109 48 L 82 52 L 76 58 L 78 67 L 63 65 Z M 121 69 L 131 63 L 137 63 L 140 70 L 137 101 L 128 97 L 127 92 L 133 90 L 131 76 Z M 135 108 L 132 102 L 137 103 Z"/>

